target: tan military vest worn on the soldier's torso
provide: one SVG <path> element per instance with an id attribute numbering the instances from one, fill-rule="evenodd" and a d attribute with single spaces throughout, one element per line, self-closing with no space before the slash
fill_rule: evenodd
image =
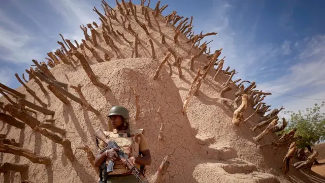
<path id="1" fill-rule="evenodd" d="M 115 129 L 114 129 L 115 130 Z M 131 137 L 127 137 L 126 131 L 119 131 L 116 130 L 113 132 L 105 131 L 104 134 L 106 138 L 112 141 L 115 141 L 117 145 L 124 151 L 124 153 L 130 157 L 139 157 L 139 144 L 141 141 L 141 137 L 139 134 L 142 134 L 144 129 L 132 130 L 130 132 Z M 106 160 L 106 164 L 108 164 L 109 159 Z M 136 167 L 140 169 L 140 165 L 136 164 Z M 125 168 L 122 161 L 119 160 L 115 162 L 113 167 L 113 172 L 108 173 L 109 175 L 114 174 L 131 174 L 132 172 Z"/>

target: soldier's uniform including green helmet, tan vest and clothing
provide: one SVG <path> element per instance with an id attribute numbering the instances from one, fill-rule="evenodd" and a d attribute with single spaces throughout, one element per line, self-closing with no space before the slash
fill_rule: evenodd
<path id="1" fill-rule="evenodd" d="M 116 108 L 120 110 L 117 110 Z M 110 115 L 122 115 L 125 120 L 129 118 L 128 111 L 121 106 L 115 106 L 115 108 L 113 107 L 110 110 L 109 116 Z M 131 130 L 131 131 L 130 130 L 117 131 L 116 129 L 114 129 L 113 132 L 104 131 L 104 134 L 106 135 L 107 139 L 115 141 L 118 144 L 118 146 L 124 151 L 124 153 L 130 158 L 130 157 L 140 157 L 141 156 L 140 151 L 149 149 L 148 141 L 143 135 L 143 131 L 144 129 Z M 106 147 L 106 144 L 103 141 L 101 141 L 99 146 L 101 149 L 103 149 Z M 106 160 L 106 165 L 108 164 L 108 162 L 109 159 Z M 139 164 L 135 164 L 135 165 L 140 170 L 140 165 Z M 138 180 L 132 174 L 132 172 L 125 167 L 122 161 L 119 160 L 115 162 L 113 166 L 113 171 L 108 173 L 108 183 L 115 183 L 115 182 L 138 182 Z"/>

